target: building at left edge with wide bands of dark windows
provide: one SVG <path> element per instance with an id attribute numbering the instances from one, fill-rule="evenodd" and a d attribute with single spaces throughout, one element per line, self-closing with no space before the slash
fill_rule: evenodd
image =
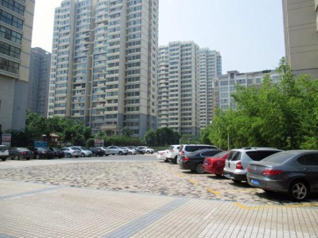
<path id="1" fill-rule="evenodd" d="M 0 128 L 25 127 L 34 0 L 0 0 Z"/>

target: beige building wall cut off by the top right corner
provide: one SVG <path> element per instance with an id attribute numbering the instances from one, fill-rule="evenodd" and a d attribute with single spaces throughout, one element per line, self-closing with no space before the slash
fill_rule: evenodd
<path id="1" fill-rule="evenodd" d="M 318 0 L 282 0 L 286 60 L 297 75 L 318 78 Z"/>

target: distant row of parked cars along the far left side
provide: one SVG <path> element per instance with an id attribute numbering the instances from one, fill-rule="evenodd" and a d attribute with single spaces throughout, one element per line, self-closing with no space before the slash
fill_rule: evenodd
<path id="1" fill-rule="evenodd" d="M 0 159 L 20 160 L 20 159 L 53 159 L 53 158 L 72 158 L 72 157 L 95 157 L 108 155 L 136 155 L 136 154 L 153 154 L 155 151 L 146 146 L 108 146 L 108 147 L 89 147 L 71 146 L 61 149 L 56 147 L 35 147 L 32 150 L 23 147 L 7 148 L 0 145 Z"/>

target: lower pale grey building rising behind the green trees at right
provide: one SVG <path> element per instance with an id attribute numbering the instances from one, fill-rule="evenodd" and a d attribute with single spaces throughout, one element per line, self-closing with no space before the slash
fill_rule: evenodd
<path id="1" fill-rule="evenodd" d="M 229 71 L 227 74 L 216 76 L 213 79 L 213 110 L 236 109 L 232 93 L 236 92 L 236 85 L 251 87 L 260 85 L 266 74 L 269 74 L 274 83 L 280 82 L 280 74 L 276 70 L 264 70 L 259 72 L 239 73 L 239 71 Z"/>

